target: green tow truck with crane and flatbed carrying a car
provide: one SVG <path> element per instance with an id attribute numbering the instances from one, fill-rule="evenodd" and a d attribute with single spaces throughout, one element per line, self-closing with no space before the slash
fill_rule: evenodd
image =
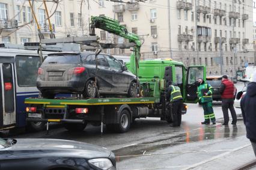
<path id="1" fill-rule="evenodd" d="M 166 102 L 169 100 L 166 99 L 169 82 L 177 83 L 184 102 L 197 103 L 197 79 L 202 77 L 206 80 L 204 66 L 185 68 L 182 62 L 172 61 L 172 59 L 139 61 L 141 41 L 138 35 L 127 32 L 126 28 L 121 26 L 117 20 L 108 17 L 92 17 L 91 21 L 91 35 L 94 33 L 94 28 L 100 28 L 129 39 L 129 45 L 133 46 L 133 53 L 127 68 L 139 79 L 140 95 L 134 98 L 97 99 L 82 99 L 81 97 L 28 98 L 25 99 L 25 103 L 28 105 L 26 121 L 38 122 L 38 127 L 35 130 L 43 129 L 45 123 L 47 123 L 48 129 L 50 122 L 62 123 L 67 130 L 84 130 L 87 123 L 91 123 L 94 126 L 101 126 L 101 132 L 103 132 L 103 124 L 106 124 L 107 129 L 123 133 L 129 130 L 130 124 L 136 118 L 158 117 L 160 120 L 171 123 L 171 105 Z M 74 38 L 43 40 L 42 43 L 59 41 L 77 43 Z M 93 36 L 79 38 L 79 43 L 91 46 L 99 45 L 94 41 Z M 101 45 L 111 47 L 110 44 Z M 114 47 L 116 46 L 114 45 Z M 186 114 L 186 109 L 187 106 L 184 105 L 183 114 Z"/>

